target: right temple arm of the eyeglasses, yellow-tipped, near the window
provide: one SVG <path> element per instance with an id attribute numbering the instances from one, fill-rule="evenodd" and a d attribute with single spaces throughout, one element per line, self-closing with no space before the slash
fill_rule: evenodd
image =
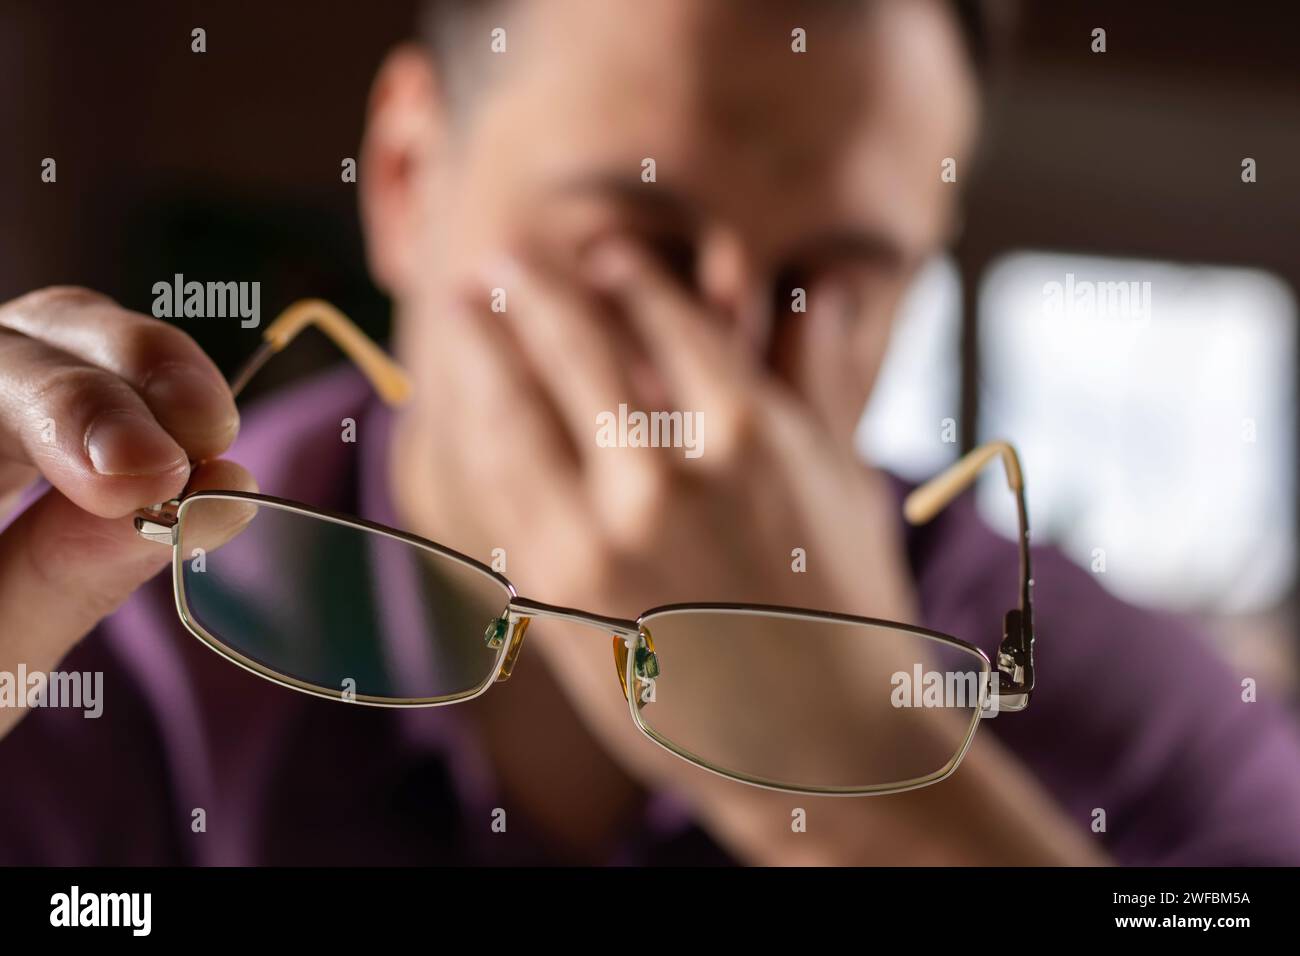
<path id="1" fill-rule="evenodd" d="M 1034 691 L 1034 578 L 1030 571 L 1030 519 L 1024 506 L 1024 476 L 1020 458 L 1010 442 L 991 441 L 967 453 L 946 471 L 920 485 L 904 501 L 904 516 L 910 524 L 926 524 L 966 490 L 994 458 L 1002 459 L 1006 484 L 1015 494 L 1019 524 L 1020 604 L 1006 613 L 1002 643 L 997 650 L 998 709 L 1023 710 Z"/>

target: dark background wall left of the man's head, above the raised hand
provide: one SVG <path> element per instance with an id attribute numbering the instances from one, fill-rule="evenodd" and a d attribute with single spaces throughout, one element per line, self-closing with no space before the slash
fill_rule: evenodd
<path id="1" fill-rule="evenodd" d="M 320 295 L 382 330 L 339 163 L 358 155 L 370 79 L 415 9 L 5 0 L 0 300 L 69 282 L 148 312 L 153 282 L 185 272 L 260 280 L 266 313 Z M 46 156 L 56 185 L 40 182 Z M 179 324 L 224 369 L 256 345 L 254 329 Z M 326 355 L 307 337 L 274 373 Z"/>

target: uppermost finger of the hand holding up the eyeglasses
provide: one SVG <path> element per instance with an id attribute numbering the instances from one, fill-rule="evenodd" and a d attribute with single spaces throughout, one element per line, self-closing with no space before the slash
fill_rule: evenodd
<path id="1" fill-rule="evenodd" d="M 216 458 L 239 431 L 221 372 L 174 325 L 98 293 L 60 287 L 0 307 L 0 326 L 120 376 L 192 460 Z"/>

